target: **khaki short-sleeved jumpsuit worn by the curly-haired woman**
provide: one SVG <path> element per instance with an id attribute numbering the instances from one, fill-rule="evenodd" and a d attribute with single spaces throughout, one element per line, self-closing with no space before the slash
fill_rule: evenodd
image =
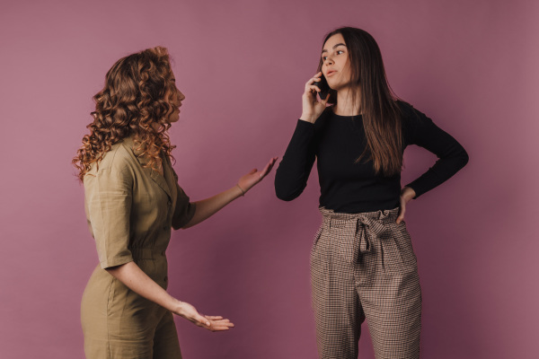
<path id="1" fill-rule="evenodd" d="M 133 138 L 112 145 L 84 176 L 84 207 L 100 265 L 81 305 L 84 353 L 93 358 L 181 358 L 172 312 L 134 293 L 105 268 L 135 261 L 164 289 L 171 227 L 195 213 L 168 157 L 163 176 L 143 168 Z"/>

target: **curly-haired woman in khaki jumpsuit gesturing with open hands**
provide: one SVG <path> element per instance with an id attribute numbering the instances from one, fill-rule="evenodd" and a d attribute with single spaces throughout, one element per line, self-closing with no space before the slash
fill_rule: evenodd
<path id="1" fill-rule="evenodd" d="M 198 224 L 243 196 L 276 158 L 233 188 L 190 202 L 167 134 L 184 99 L 161 47 L 119 59 L 94 96 L 90 134 L 73 160 L 100 260 L 81 305 L 87 358 L 181 358 L 172 313 L 212 331 L 234 327 L 166 292 L 165 250 L 172 228 Z"/>

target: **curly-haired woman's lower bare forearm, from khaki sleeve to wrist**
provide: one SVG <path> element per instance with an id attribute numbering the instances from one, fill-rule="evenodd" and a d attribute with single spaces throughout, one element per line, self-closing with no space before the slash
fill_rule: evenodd
<path id="1" fill-rule="evenodd" d="M 128 262 L 106 270 L 111 276 L 119 279 L 121 283 L 147 300 L 155 302 L 169 311 L 178 311 L 181 302 L 167 293 L 160 285 L 157 285 L 135 262 Z"/>

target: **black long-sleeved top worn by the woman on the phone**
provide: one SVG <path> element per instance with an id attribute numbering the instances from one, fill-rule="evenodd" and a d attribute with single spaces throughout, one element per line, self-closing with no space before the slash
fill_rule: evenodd
<path id="1" fill-rule="evenodd" d="M 407 184 L 416 197 L 448 180 L 468 162 L 468 153 L 455 138 L 410 104 L 402 109 L 402 153 L 409 144 L 426 148 L 437 162 L 420 178 Z M 401 174 L 376 174 L 372 160 L 356 162 L 367 145 L 361 116 L 339 116 L 326 109 L 314 124 L 298 120 L 296 131 L 278 166 L 277 197 L 298 197 L 317 159 L 320 206 L 341 213 L 372 212 L 400 206 Z"/>

